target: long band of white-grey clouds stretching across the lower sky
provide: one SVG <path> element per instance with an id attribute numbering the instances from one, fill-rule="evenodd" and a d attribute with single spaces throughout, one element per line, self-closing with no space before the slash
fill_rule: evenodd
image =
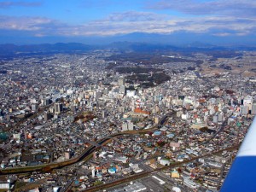
<path id="1" fill-rule="evenodd" d="M 95 20 L 83 25 L 66 23 L 42 17 L 0 16 L 0 30 L 32 32 L 34 36 L 108 36 L 132 32 L 172 33 L 194 32 L 212 35 L 246 35 L 255 32 L 252 18 L 234 16 L 205 16 L 171 18 L 149 12 L 125 12 L 109 15 L 105 20 Z"/>

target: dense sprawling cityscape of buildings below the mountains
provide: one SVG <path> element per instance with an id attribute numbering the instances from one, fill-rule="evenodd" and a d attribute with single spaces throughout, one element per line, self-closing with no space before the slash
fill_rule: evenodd
<path id="1" fill-rule="evenodd" d="M 0 191 L 221 188 L 256 114 L 256 52 L 130 51 L 2 58 Z"/>

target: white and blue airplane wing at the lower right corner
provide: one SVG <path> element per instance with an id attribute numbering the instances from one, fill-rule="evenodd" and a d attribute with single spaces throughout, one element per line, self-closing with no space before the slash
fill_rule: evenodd
<path id="1" fill-rule="evenodd" d="M 220 189 L 220 192 L 236 191 L 256 191 L 256 117 Z"/>

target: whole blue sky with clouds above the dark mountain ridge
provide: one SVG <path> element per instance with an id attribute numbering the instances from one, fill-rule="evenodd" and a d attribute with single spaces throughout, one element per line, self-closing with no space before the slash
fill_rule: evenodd
<path id="1" fill-rule="evenodd" d="M 255 0 L 0 0 L 0 44 L 255 44 L 255 32 Z"/>

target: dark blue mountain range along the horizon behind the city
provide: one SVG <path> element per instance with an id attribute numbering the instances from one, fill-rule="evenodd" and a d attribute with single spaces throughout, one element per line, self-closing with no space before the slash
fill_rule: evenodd
<path id="1" fill-rule="evenodd" d="M 142 35 L 142 34 L 132 34 Z M 154 35 L 155 37 L 159 35 Z M 152 38 L 151 34 L 148 37 Z M 120 39 L 120 38 L 119 38 Z M 83 53 L 95 49 L 119 49 L 120 51 L 135 51 L 142 53 L 158 52 L 160 54 L 165 51 L 177 51 L 183 54 L 192 52 L 212 52 L 212 51 L 228 51 L 228 50 L 256 50 L 255 45 L 229 45 L 229 46 L 215 46 L 212 44 L 205 44 L 196 41 L 195 43 L 172 45 L 172 44 L 157 44 L 157 43 L 142 43 L 130 41 L 116 41 L 111 44 L 102 45 L 88 45 L 80 43 L 57 43 L 57 44 L 0 44 L 0 56 L 14 56 L 14 55 L 49 55 L 55 53 Z M 219 53 L 218 53 L 219 54 Z"/>

